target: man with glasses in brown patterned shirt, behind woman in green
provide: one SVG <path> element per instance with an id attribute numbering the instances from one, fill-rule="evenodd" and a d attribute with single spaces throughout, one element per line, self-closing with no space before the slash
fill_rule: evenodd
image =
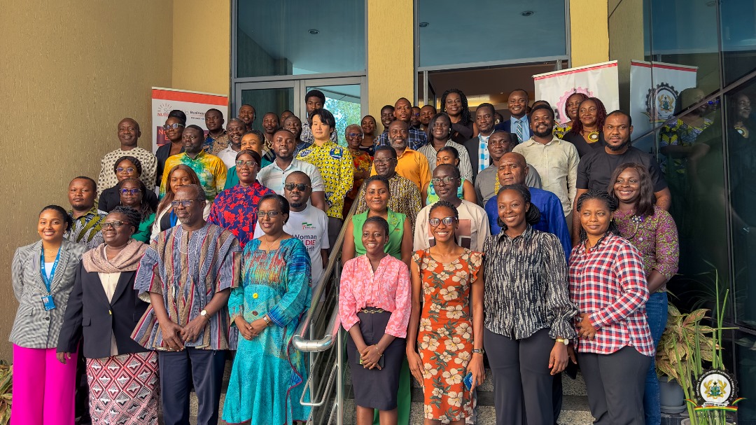
<path id="1" fill-rule="evenodd" d="M 373 157 L 373 169 L 377 175 L 383 175 L 389 180 L 389 209 L 395 213 L 402 213 L 410 220 L 412 228 L 415 228 L 415 220 L 423 203 L 420 200 L 420 190 L 411 180 L 402 177 L 396 172 L 396 150 L 389 146 L 376 147 Z M 365 201 L 365 188 L 360 188 L 357 195 L 357 210 L 355 214 L 367 211 Z"/>

